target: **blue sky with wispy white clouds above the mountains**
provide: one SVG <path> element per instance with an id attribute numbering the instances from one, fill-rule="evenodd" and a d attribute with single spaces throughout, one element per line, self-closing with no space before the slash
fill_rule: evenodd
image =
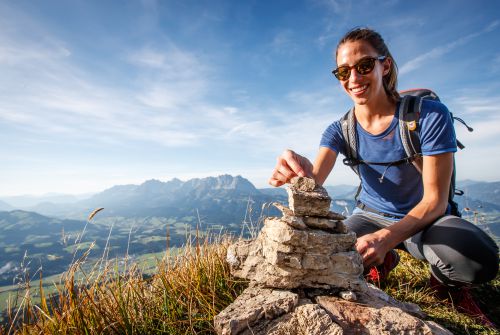
<path id="1" fill-rule="evenodd" d="M 86 193 L 229 173 L 264 187 L 314 159 L 350 106 L 331 75 L 354 26 L 385 38 L 399 88 L 434 89 L 500 180 L 498 1 L 0 1 L 0 195 Z M 340 161 L 326 184 L 356 184 Z"/>

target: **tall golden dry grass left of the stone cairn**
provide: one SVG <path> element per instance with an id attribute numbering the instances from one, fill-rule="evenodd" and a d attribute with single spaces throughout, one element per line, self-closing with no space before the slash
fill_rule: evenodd
<path id="1" fill-rule="evenodd" d="M 0 333 L 211 334 L 213 317 L 246 287 L 230 276 L 228 243 L 205 238 L 181 254 L 166 253 L 149 278 L 137 265 L 119 271 L 116 262 L 96 264 L 86 273 L 82 257 L 65 273 L 57 294 L 45 295 L 40 279 L 38 305 L 27 283 Z"/>

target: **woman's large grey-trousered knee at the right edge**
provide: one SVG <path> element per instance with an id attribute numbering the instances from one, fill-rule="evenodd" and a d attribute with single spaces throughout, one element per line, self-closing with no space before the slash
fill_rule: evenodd
<path id="1" fill-rule="evenodd" d="M 422 243 L 433 273 L 445 282 L 484 283 L 498 273 L 498 246 L 462 218 L 436 221 L 423 232 Z"/>

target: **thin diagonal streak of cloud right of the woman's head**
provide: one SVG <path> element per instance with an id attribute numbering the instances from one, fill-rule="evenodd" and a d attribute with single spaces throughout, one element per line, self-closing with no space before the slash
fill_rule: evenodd
<path id="1" fill-rule="evenodd" d="M 423 66 L 429 60 L 439 58 L 439 57 L 453 51 L 454 49 L 456 49 L 464 44 L 467 44 L 469 41 L 471 41 L 472 39 L 474 39 L 480 35 L 494 31 L 499 25 L 500 25 L 500 20 L 493 21 L 488 26 L 486 26 L 484 29 L 482 29 L 478 32 L 466 35 L 466 36 L 461 37 L 453 42 L 450 42 L 450 43 L 445 44 L 443 46 L 436 47 L 436 48 L 434 48 L 434 49 L 432 49 L 432 50 L 430 50 L 430 51 L 428 51 L 420 56 L 417 56 L 414 59 L 403 64 L 399 69 L 399 73 L 401 75 L 403 75 L 403 74 L 407 74 L 411 71 L 414 71 L 414 70 L 420 68 L 421 66 Z"/>

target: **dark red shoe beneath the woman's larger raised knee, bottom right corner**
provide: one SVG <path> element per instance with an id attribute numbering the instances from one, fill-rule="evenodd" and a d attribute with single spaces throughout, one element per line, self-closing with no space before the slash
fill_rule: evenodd
<path id="1" fill-rule="evenodd" d="M 468 286 L 450 287 L 441 283 L 431 274 L 429 286 L 440 299 L 448 300 L 460 313 L 476 319 L 483 326 L 496 329 L 496 325 L 481 311 Z"/>

